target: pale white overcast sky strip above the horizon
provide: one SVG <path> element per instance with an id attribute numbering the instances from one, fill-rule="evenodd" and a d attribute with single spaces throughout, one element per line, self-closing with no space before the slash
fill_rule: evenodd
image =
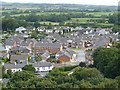
<path id="1" fill-rule="evenodd" d="M 3 2 L 20 3 L 68 3 L 68 4 L 92 4 L 92 5 L 118 5 L 120 0 L 0 0 Z"/>

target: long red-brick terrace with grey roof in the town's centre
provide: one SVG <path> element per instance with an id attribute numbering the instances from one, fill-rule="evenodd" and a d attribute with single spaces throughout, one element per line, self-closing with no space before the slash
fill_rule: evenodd
<path id="1" fill-rule="evenodd" d="M 62 45 L 60 43 L 48 43 L 48 42 L 38 42 L 33 47 L 35 53 L 42 51 L 49 51 L 50 53 L 57 53 L 62 50 Z"/>

